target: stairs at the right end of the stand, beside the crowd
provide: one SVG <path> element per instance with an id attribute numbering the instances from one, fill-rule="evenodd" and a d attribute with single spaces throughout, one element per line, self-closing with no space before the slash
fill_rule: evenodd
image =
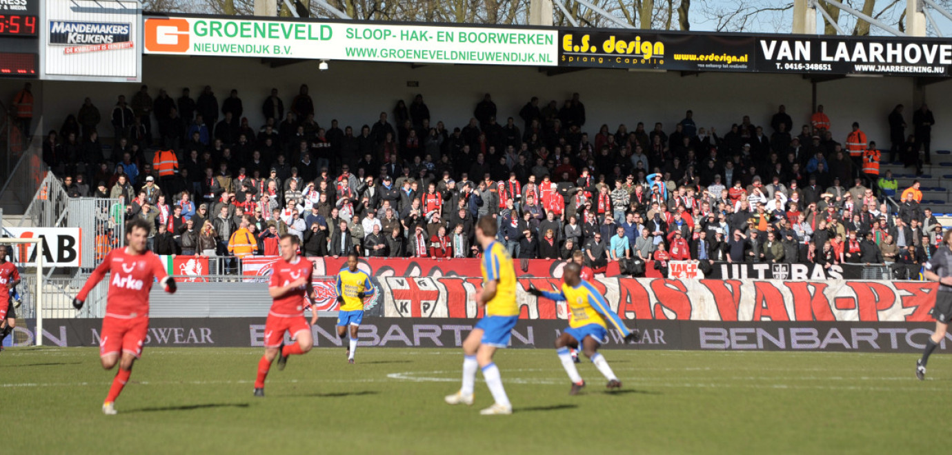
<path id="1" fill-rule="evenodd" d="M 896 190 L 896 202 L 900 201 L 902 190 L 919 180 L 922 185 L 922 208 L 931 208 L 932 213 L 943 227 L 952 227 L 952 151 L 932 152 L 932 164 L 922 167 L 922 175 L 916 175 L 916 168 L 905 168 L 902 164 L 883 165 L 880 172 L 892 170 L 893 178 L 899 183 Z"/>

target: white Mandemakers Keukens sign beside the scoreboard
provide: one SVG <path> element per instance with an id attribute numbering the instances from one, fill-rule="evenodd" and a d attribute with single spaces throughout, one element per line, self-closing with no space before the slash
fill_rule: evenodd
<path id="1" fill-rule="evenodd" d="M 43 8 L 42 79 L 142 80 L 139 2 L 46 0 Z"/>

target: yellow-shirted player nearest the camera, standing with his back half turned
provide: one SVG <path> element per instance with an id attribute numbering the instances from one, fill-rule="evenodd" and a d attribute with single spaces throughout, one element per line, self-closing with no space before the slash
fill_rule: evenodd
<path id="1" fill-rule="evenodd" d="M 472 405 L 476 366 L 483 369 L 483 378 L 495 403 L 480 411 L 483 415 L 511 414 L 512 405 L 506 396 L 499 367 L 492 356 L 499 347 L 509 344 L 512 328 L 519 321 L 516 304 L 516 268 L 506 247 L 496 242 L 496 220 L 480 218 L 476 224 L 476 241 L 483 247 L 483 289 L 477 303 L 486 307 L 486 316 L 473 328 L 463 342 L 463 386 L 446 396 L 449 405 Z"/>

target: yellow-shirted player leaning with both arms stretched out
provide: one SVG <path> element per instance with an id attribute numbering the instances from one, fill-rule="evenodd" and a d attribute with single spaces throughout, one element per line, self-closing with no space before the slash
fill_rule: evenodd
<path id="1" fill-rule="evenodd" d="M 628 329 L 622 323 L 622 318 L 618 313 L 612 311 L 605 302 L 605 297 L 590 283 L 586 282 L 580 276 L 582 267 L 578 264 L 569 263 L 563 268 L 562 292 L 545 292 L 535 287 L 529 287 L 528 292 L 536 297 L 545 297 L 556 302 L 565 301 L 568 304 L 568 310 L 571 312 L 568 328 L 555 341 L 556 353 L 559 354 L 559 360 L 568 373 L 568 378 L 572 381 L 572 388 L 569 395 L 579 393 L 579 390 L 585 386 L 585 381 L 579 375 L 575 362 L 568 352 L 567 346 L 575 348 L 582 344 L 582 351 L 595 367 L 605 375 L 608 380 L 608 388 L 620 388 L 622 382 L 618 380 L 615 373 L 608 366 L 608 361 L 598 352 L 598 347 L 605 344 L 608 338 L 608 325 L 610 324 L 616 330 L 622 332 L 625 342 L 630 342 L 636 338 L 635 333 Z"/>

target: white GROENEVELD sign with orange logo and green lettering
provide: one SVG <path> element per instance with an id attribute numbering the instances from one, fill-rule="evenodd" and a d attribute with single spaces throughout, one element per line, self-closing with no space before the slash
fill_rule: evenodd
<path id="1" fill-rule="evenodd" d="M 556 30 L 148 17 L 145 52 L 407 63 L 555 66 Z"/>

